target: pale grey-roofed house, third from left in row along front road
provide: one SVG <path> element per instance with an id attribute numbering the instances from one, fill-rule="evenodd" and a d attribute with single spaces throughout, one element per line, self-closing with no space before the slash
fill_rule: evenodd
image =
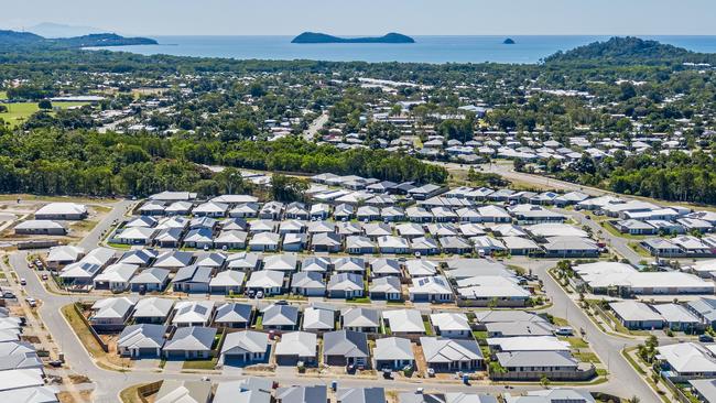
<path id="1" fill-rule="evenodd" d="M 220 360 L 225 366 L 251 364 L 268 359 L 269 334 L 243 330 L 227 334 L 221 345 Z"/>

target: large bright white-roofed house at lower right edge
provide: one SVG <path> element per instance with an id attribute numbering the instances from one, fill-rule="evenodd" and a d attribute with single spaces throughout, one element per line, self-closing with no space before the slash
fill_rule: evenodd
<path id="1" fill-rule="evenodd" d="M 657 347 L 657 360 L 662 375 L 673 382 L 686 382 L 698 378 L 716 378 L 714 345 L 677 342 Z"/>

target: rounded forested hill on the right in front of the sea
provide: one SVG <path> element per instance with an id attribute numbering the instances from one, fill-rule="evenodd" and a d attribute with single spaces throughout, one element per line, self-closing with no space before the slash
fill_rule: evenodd
<path id="1" fill-rule="evenodd" d="M 622 65 L 655 65 L 673 63 L 714 63 L 716 55 L 695 53 L 682 47 L 648 41 L 633 36 L 611 37 L 606 42 L 594 42 L 567 52 L 557 52 L 544 59 L 545 63 L 599 63 Z"/>

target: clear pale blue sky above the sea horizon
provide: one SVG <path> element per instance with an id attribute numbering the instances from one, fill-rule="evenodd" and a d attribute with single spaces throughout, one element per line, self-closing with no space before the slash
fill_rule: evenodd
<path id="1" fill-rule="evenodd" d="M 714 35 L 715 0 L 21 0 L 0 28 L 133 35 Z"/>

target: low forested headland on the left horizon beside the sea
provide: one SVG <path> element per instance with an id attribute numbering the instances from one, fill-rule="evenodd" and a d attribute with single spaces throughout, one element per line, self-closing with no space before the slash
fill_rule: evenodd
<path id="1" fill-rule="evenodd" d="M 148 37 L 124 37 L 113 33 L 90 34 L 66 39 L 45 39 L 18 31 L 0 31 L 0 46 L 31 46 L 39 48 L 74 48 L 88 46 L 155 45 Z"/>

